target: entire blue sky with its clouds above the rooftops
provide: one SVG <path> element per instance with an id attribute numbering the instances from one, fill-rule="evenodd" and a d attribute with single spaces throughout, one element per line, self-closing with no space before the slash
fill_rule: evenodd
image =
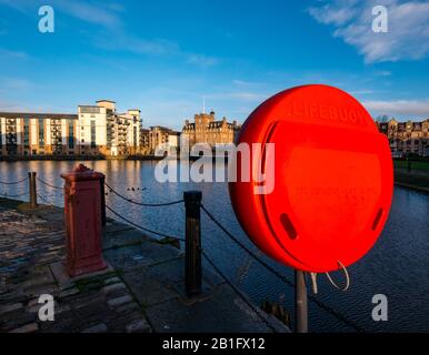
<path id="1" fill-rule="evenodd" d="M 54 33 L 38 31 L 43 4 Z M 375 4 L 388 33 L 371 31 Z M 326 83 L 373 115 L 428 118 L 428 1 L 0 0 L 0 111 L 111 99 L 180 129 L 203 97 L 242 122 L 278 91 Z"/>

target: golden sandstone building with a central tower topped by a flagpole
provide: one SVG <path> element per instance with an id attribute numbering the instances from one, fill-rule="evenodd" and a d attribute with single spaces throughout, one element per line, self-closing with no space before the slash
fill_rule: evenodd
<path id="1" fill-rule="evenodd" d="M 233 143 L 240 129 L 241 126 L 237 121 L 230 123 L 226 118 L 217 121 L 214 112 L 210 112 L 210 114 L 196 114 L 193 123 L 187 120 L 182 134 L 189 140 L 191 146 L 199 143 L 208 143 L 214 148 L 217 144 Z"/>

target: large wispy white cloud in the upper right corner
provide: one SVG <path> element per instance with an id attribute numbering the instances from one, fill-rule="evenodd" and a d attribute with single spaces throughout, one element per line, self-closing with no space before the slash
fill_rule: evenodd
<path id="1" fill-rule="evenodd" d="M 388 33 L 372 31 L 372 8 L 379 4 L 388 10 Z M 368 63 L 419 60 L 429 54 L 429 2 L 337 0 L 308 12 L 318 22 L 333 26 L 333 36 L 356 47 Z"/>

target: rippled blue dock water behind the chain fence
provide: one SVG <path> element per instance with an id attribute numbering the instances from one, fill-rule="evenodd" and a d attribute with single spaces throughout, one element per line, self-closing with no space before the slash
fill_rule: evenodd
<path id="1" fill-rule="evenodd" d="M 0 162 L 0 181 L 17 181 L 29 171 L 54 184 L 62 185 L 60 174 L 71 170 L 74 162 Z M 233 214 L 226 183 L 159 183 L 154 179 L 157 162 L 150 161 L 97 161 L 88 166 L 107 175 L 108 183 L 124 195 L 144 203 L 181 200 L 183 191 L 200 190 L 203 204 L 240 241 L 250 247 Z M 223 169 L 223 166 L 217 166 Z M 39 194 L 51 204 L 63 205 L 61 191 L 39 183 Z M 28 190 L 0 185 L 0 194 L 20 194 Z M 166 234 L 183 237 L 184 209 L 173 205 L 163 209 L 144 209 L 130 205 L 113 194 L 107 203 L 133 222 Z M 260 304 L 265 300 L 279 302 L 293 312 L 293 288 L 279 282 L 245 252 L 236 246 L 204 215 L 202 243 L 216 263 L 239 285 L 251 300 Z M 255 248 L 255 247 L 253 247 Z M 271 265 L 293 280 L 291 270 L 270 261 Z M 319 276 L 318 300 L 335 308 L 368 332 L 428 332 L 429 331 L 429 195 L 397 187 L 389 221 L 373 250 L 359 263 L 349 267 L 351 287 L 342 293 L 335 290 L 323 275 Z M 333 275 L 341 282 L 341 274 Z M 377 323 L 371 313 L 372 297 L 388 297 L 388 322 Z M 350 332 L 350 327 L 335 316 L 309 305 L 311 332 Z"/>

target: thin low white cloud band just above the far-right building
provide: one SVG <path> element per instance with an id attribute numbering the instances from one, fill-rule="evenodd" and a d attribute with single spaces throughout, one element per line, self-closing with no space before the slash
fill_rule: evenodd
<path id="1" fill-rule="evenodd" d="M 393 100 L 363 101 L 362 104 L 371 112 L 389 115 L 411 115 L 429 118 L 429 99 L 425 100 Z"/>

